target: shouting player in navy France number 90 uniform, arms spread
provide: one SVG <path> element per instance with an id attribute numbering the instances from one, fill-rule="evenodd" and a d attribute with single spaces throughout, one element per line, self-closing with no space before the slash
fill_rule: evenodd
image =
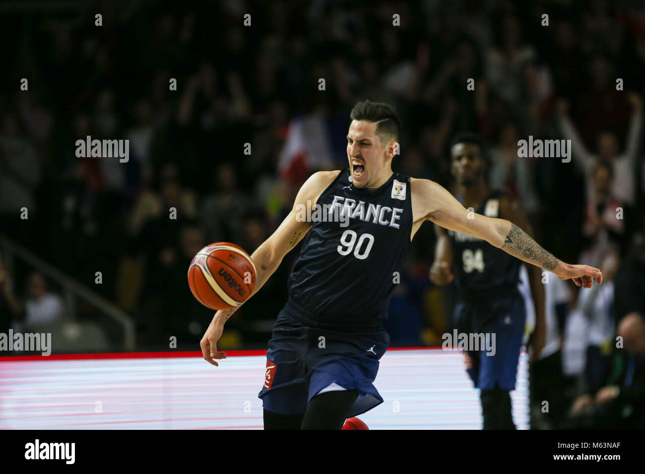
<path id="1" fill-rule="evenodd" d="M 372 384 L 390 340 L 381 323 L 394 273 L 424 221 L 480 237 L 579 286 L 602 281 L 596 268 L 559 261 L 510 221 L 468 219 L 439 184 L 393 173 L 401 121 L 390 105 L 357 103 L 350 117 L 349 168 L 314 173 L 292 212 L 252 255 L 255 293 L 307 235 L 266 353 L 259 393 L 265 429 L 340 430 L 345 419 L 383 401 Z M 302 219 L 304 206 L 323 204 L 333 211 L 324 215 L 339 218 Z M 217 341 L 234 311 L 217 311 L 201 340 L 204 359 L 213 365 L 226 357 Z"/>

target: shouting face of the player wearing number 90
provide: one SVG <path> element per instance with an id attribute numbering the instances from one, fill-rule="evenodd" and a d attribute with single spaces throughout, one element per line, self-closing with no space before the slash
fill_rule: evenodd
<path id="1" fill-rule="evenodd" d="M 393 156 L 392 147 L 381 144 L 376 126 L 375 122 L 353 120 L 347 133 L 347 158 L 352 183 L 357 188 L 376 188 L 392 173 L 388 166 Z"/>

